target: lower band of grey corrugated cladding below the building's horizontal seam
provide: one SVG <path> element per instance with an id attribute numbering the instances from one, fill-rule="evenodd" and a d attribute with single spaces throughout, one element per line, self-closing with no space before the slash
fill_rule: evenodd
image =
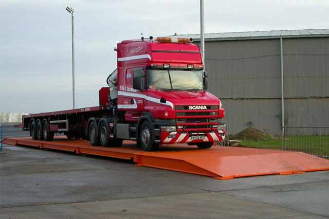
<path id="1" fill-rule="evenodd" d="M 229 134 L 236 134 L 251 126 L 265 133 L 280 134 L 281 99 L 221 100 Z M 329 98 L 285 99 L 284 106 L 286 125 L 328 126 Z"/>

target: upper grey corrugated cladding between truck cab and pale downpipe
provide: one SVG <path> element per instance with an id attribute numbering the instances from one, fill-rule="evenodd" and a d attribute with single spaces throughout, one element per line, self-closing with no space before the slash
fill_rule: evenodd
<path id="1" fill-rule="evenodd" d="M 281 97 L 280 41 L 206 42 L 205 51 L 212 94 L 222 99 Z"/>

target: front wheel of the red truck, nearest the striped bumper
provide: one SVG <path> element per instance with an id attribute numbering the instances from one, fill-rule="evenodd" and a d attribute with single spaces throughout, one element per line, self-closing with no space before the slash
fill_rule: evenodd
<path id="1" fill-rule="evenodd" d="M 141 148 L 144 151 L 156 151 L 159 148 L 159 144 L 153 142 L 154 136 L 150 122 L 145 120 L 142 123 L 140 130 L 139 141 Z"/>

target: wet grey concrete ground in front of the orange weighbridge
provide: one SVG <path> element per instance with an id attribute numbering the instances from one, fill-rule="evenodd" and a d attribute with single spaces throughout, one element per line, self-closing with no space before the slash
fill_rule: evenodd
<path id="1" fill-rule="evenodd" d="M 4 124 L 4 137 L 28 132 Z M 3 145 L 0 218 L 324 218 L 329 171 L 216 180 Z"/>

